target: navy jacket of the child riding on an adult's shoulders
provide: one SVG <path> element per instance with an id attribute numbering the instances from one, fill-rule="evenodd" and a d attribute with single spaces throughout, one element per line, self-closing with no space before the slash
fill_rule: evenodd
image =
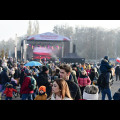
<path id="1" fill-rule="evenodd" d="M 112 66 L 105 59 L 101 61 L 100 71 L 101 73 L 107 73 L 111 71 Z"/>

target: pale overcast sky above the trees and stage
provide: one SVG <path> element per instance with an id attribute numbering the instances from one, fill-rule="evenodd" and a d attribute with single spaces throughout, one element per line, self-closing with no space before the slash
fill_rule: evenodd
<path id="1" fill-rule="evenodd" d="M 32 20 L 33 23 L 34 20 Z M 120 28 L 120 20 L 38 20 L 40 34 L 52 32 L 55 25 L 68 24 L 75 27 L 102 27 L 105 29 Z M 0 20 L 0 40 L 8 40 L 27 33 L 29 20 Z"/>

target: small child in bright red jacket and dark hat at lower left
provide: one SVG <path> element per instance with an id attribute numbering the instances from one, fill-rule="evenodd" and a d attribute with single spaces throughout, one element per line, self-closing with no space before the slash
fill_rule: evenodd
<path id="1" fill-rule="evenodd" d="M 6 94 L 6 99 L 5 100 L 12 100 L 13 92 L 17 93 L 17 90 L 13 88 L 12 84 L 8 84 L 6 86 L 5 91 L 4 91 L 4 94 Z"/>

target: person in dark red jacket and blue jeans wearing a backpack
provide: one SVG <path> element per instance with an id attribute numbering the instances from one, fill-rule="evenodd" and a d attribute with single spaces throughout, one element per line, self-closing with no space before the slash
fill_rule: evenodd
<path id="1" fill-rule="evenodd" d="M 31 73 L 28 69 L 25 70 L 25 77 L 21 85 L 20 94 L 22 95 L 22 100 L 33 100 L 32 94 L 33 90 L 30 90 L 29 85 L 31 84 Z"/>

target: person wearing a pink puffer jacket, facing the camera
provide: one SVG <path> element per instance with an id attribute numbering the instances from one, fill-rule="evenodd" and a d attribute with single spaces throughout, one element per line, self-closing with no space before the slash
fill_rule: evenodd
<path id="1" fill-rule="evenodd" d="M 91 80 L 89 78 L 89 76 L 87 76 L 87 73 L 85 70 L 82 71 L 82 75 L 78 78 L 78 85 L 80 87 L 81 90 L 81 94 L 83 96 L 83 90 L 87 85 L 91 84 Z"/>

